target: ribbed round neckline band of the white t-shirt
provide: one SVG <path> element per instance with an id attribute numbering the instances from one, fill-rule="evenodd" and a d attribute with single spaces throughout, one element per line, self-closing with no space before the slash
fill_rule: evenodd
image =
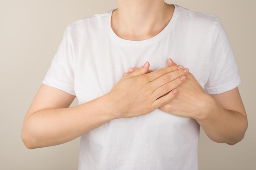
<path id="1" fill-rule="evenodd" d="M 146 44 L 146 43 L 155 41 L 156 39 L 159 39 L 160 37 L 164 37 L 164 35 L 166 33 L 168 33 L 168 31 L 170 30 L 170 27 L 173 25 L 173 22 L 175 21 L 177 11 L 178 11 L 177 5 L 173 4 L 173 6 L 174 6 L 173 16 L 172 16 L 170 22 L 166 25 L 166 27 L 160 33 L 155 35 L 154 37 L 151 37 L 151 38 L 145 39 L 145 40 L 141 40 L 141 41 L 122 39 L 115 34 L 115 32 L 113 31 L 113 29 L 111 27 L 111 17 L 112 17 L 112 12 L 114 11 L 114 9 L 112 9 L 109 11 L 109 15 L 108 15 L 108 28 L 109 28 L 110 34 L 117 41 L 120 41 L 120 42 L 126 43 L 126 44 Z"/>

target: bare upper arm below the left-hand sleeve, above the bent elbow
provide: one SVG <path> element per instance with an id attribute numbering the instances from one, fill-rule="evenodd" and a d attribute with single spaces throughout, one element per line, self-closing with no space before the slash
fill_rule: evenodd
<path id="1" fill-rule="evenodd" d="M 43 109 L 69 107 L 75 97 L 76 96 L 68 94 L 60 89 L 42 84 L 38 89 L 38 92 L 36 93 L 36 96 L 32 101 L 26 116 Z"/>

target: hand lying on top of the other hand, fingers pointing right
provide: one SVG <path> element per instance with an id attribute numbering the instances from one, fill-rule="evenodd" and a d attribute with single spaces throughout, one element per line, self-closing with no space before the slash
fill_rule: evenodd
<path id="1" fill-rule="evenodd" d="M 189 69 L 181 65 L 149 72 L 149 63 L 124 76 L 107 94 L 113 100 L 115 118 L 142 116 L 169 102 Z"/>

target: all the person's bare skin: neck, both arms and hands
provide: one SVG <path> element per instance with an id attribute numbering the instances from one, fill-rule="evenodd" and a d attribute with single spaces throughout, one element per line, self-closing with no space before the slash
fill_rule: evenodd
<path id="1" fill-rule="evenodd" d="M 118 0 L 118 5 L 112 29 L 119 37 L 135 41 L 160 33 L 174 9 L 164 0 Z M 243 139 L 247 118 L 238 89 L 209 95 L 187 68 L 171 60 L 168 64 L 150 72 L 146 62 L 127 73 L 108 94 L 71 108 L 75 96 L 41 85 L 24 119 L 25 146 L 63 144 L 111 120 L 145 115 L 157 108 L 194 118 L 216 142 L 235 144 Z"/>

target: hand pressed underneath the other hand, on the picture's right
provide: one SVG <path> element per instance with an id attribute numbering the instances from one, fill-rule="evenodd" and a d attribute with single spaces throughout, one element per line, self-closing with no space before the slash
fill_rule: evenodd
<path id="1" fill-rule="evenodd" d="M 171 59 L 168 65 L 176 65 Z M 130 68 L 129 72 L 133 72 L 136 68 Z M 211 96 L 207 94 L 202 86 L 195 79 L 193 74 L 186 74 L 186 80 L 177 88 L 178 94 L 170 102 L 166 103 L 159 109 L 175 116 L 187 118 L 204 118 L 204 113 L 209 113 L 211 105 Z"/>

